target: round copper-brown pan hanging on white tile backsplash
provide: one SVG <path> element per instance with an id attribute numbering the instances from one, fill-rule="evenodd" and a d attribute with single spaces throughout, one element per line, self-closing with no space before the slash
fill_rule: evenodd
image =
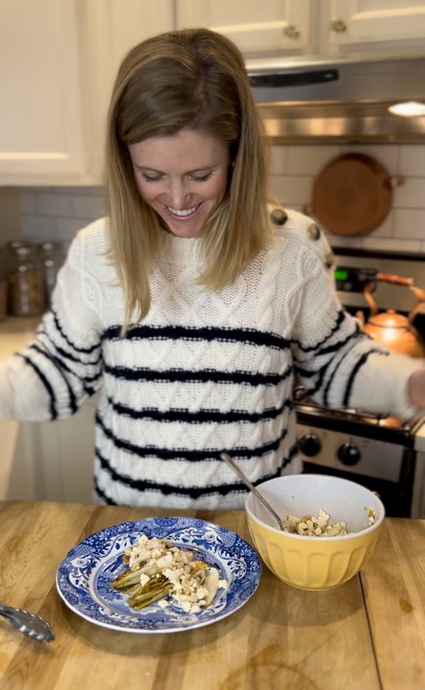
<path id="1" fill-rule="evenodd" d="M 345 153 L 317 175 L 312 213 L 335 235 L 366 235 L 382 224 L 392 201 L 384 166 L 364 153 Z"/>

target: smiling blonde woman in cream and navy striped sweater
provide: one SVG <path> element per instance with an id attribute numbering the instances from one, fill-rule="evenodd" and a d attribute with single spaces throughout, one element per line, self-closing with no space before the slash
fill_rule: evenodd
<path id="1" fill-rule="evenodd" d="M 264 157 L 228 39 L 171 32 L 123 61 L 108 217 L 77 235 L 37 340 L 0 374 L 0 413 L 21 420 L 70 415 L 99 391 L 100 502 L 241 508 L 223 451 L 253 482 L 301 471 L 295 379 L 332 407 L 425 406 L 417 362 L 339 304 L 319 229 L 268 204 Z"/>

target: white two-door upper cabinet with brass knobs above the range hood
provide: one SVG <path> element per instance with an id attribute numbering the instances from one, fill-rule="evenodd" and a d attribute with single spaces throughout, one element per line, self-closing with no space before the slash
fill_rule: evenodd
<path id="1" fill-rule="evenodd" d="M 424 54 L 420 0 L 176 0 L 176 21 L 225 34 L 248 59 Z"/>

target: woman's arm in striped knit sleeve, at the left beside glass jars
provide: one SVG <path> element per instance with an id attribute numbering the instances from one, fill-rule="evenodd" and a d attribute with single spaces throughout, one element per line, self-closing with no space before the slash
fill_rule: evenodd
<path id="1" fill-rule="evenodd" d="M 59 271 L 52 309 L 37 338 L 0 367 L 0 416 L 28 421 L 71 415 L 101 384 L 97 288 L 86 235 L 72 243 Z M 90 262 L 89 262 L 90 263 Z"/>

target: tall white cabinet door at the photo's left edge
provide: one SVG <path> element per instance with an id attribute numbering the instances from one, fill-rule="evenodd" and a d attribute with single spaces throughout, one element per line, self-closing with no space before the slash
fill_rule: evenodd
<path id="1" fill-rule="evenodd" d="M 78 4 L 0 3 L 0 184 L 84 171 Z"/>

